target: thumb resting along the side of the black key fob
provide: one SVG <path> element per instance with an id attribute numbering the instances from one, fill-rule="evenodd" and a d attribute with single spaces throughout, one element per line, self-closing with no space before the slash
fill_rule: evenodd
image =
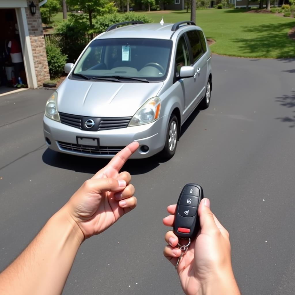
<path id="1" fill-rule="evenodd" d="M 210 201 L 207 198 L 204 198 L 200 202 L 199 206 L 199 217 L 200 217 L 200 227 L 201 227 L 201 233 L 210 235 L 211 233 L 218 230 L 213 213 L 210 210 Z"/>

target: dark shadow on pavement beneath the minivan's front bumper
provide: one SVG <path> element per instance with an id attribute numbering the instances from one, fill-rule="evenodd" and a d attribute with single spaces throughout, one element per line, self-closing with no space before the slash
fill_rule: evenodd
<path id="1" fill-rule="evenodd" d="M 53 167 L 90 174 L 95 174 L 110 161 L 110 159 L 88 158 L 57 153 L 49 148 L 43 153 L 42 160 L 45 164 Z M 126 170 L 131 175 L 145 174 L 163 162 L 166 162 L 166 160 L 161 159 L 158 155 L 147 159 L 130 159 L 121 170 Z"/>

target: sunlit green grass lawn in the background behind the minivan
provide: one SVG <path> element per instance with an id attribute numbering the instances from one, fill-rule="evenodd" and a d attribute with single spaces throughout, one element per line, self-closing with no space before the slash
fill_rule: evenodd
<path id="1" fill-rule="evenodd" d="M 158 11 L 144 13 L 154 22 L 179 22 L 189 20 L 190 12 Z M 55 18 L 62 20 L 62 13 Z M 216 43 L 212 52 L 221 55 L 250 58 L 295 57 L 295 41 L 288 32 L 295 27 L 293 18 L 274 14 L 245 13 L 243 9 L 198 9 L 196 23 L 202 27 L 207 38 Z"/>

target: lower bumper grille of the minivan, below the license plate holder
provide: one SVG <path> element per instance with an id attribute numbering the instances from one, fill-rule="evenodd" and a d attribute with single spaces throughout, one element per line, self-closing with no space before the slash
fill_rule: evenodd
<path id="1" fill-rule="evenodd" d="M 58 145 L 61 150 L 67 150 L 72 152 L 78 152 L 82 154 L 91 154 L 91 155 L 115 155 L 124 147 L 99 147 L 99 149 L 90 145 L 77 145 L 75 143 L 68 143 L 58 141 Z"/>

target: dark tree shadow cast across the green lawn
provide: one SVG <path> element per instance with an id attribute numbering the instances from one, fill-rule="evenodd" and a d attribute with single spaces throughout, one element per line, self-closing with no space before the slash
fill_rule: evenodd
<path id="1" fill-rule="evenodd" d="M 283 31 L 290 30 L 294 26 L 295 22 L 287 22 L 242 27 L 245 34 L 249 32 L 255 33 L 255 38 L 249 39 L 241 36 L 234 38 L 233 41 L 238 44 L 239 50 L 243 54 L 251 55 L 259 52 L 261 56 L 268 57 L 270 54 L 273 54 L 273 52 L 278 52 L 278 48 L 280 48 L 279 56 L 291 57 L 295 54 L 295 42 Z M 294 59 L 290 58 L 290 60 Z M 289 62 L 289 59 L 285 62 Z"/>

